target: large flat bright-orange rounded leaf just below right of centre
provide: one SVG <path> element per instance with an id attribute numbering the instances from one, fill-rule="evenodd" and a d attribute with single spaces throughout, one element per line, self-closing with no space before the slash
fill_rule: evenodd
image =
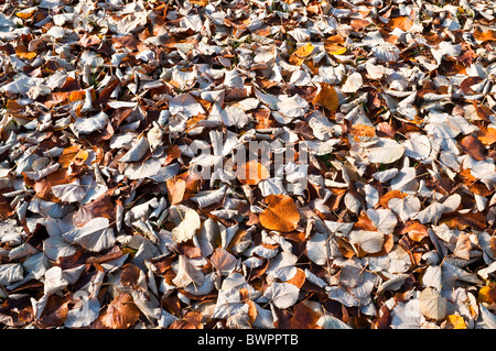
<path id="1" fill-rule="evenodd" d="M 290 232 L 298 228 L 300 212 L 293 199 L 287 195 L 269 195 L 269 206 L 260 213 L 260 223 L 269 229 Z"/>

